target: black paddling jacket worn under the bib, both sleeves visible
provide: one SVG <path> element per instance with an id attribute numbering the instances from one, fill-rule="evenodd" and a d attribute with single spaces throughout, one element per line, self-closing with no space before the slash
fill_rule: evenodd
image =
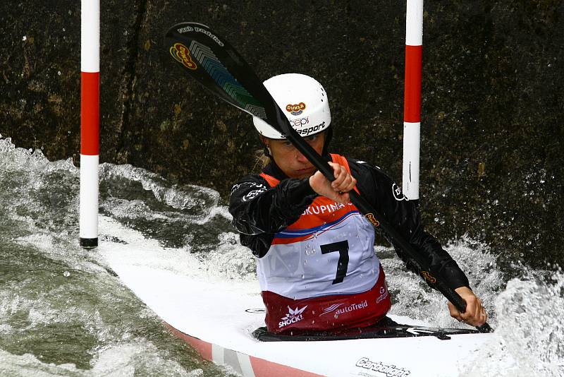
<path id="1" fill-rule="evenodd" d="M 326 157 L 329 160 L 329 155 Z M 357 179 L 360 194 L 429 260 L 431 273 L 442 273 L 452 289 L 470 287 L 466 275 L 453 258 L 424 231 L 419 211 L 414 203 L 407 201 L 398 185 L 379 167 L 350 158 L 347 161 L 351 174 Z M 240 233 L 241 244 L 250 248 L 258 258 L 269 251 L 274 234 L 298 220 L 318 195 L 309 186 L 309 179 L 288 178 L 272 162 L 263 172 L 280 179 L 280 183 L 270 187 L 258 174 L 245 176 L 233 186 L 229 203 L 233 226 Z M 392 241 L 389 237 L 386 239 Z M 419 270 L 405 258 L 403 251 L 395 244 L 394 248 L 407 268 L 419 275 Z"/>

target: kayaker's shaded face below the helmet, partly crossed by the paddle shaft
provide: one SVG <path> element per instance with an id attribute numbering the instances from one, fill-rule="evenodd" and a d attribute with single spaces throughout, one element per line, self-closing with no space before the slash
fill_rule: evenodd
<path id="1" fill-rule="evenodd" d="M 312 146 L 319 154 L 323 150 L 325 143 L 325 133 L 306 136 L 304 140 Z M 262 142 L 270 148 L 270 154 L 274 162 L 290 178 L 307 178 L 312 176 L 317 170 L 299 150 L 297 150 L 289 140 L 274 140 L 262 138 Z"/>

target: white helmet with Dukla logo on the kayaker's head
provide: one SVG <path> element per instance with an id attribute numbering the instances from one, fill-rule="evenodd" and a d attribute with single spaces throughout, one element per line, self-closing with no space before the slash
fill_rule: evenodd
<path id="1" fill-rule="evenodd" d="M 302 137 L 329 128 L 331 112 L 327 94 L 314 78 L 300 73 L 284 73 L 264 81 L 264 86 Z M 252 123 L 266 138 L 285 138 L 257 116 L 252 117 Z"/>

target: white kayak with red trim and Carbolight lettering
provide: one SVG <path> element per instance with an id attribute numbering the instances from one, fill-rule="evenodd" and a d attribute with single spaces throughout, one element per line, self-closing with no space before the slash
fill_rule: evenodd
<path id="1" fill-rule="evenodd" d="M 204 359 L 245 377 L 458 376 L 492 336 L 389 316 L 386 325 L 341 337 L 278 337 L 264 328 L 256 280 L 202 273 L 189 253 L 111 227 L 121 235 L 99 246 L 108 268 Z M 289 307 L 281 320 L 300 321 L 300 308 Z"/>

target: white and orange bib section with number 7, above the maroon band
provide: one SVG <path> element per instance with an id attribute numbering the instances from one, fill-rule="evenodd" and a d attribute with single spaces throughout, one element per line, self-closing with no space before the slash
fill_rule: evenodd
<path id="1" fill-rule="evenodd" d="M 379 276 L 374 228 L 357 208 L 318 196 L 292 225 L 275 235 L 257 261 L 263 291 L 290 299 L 355 294 Z"/>

